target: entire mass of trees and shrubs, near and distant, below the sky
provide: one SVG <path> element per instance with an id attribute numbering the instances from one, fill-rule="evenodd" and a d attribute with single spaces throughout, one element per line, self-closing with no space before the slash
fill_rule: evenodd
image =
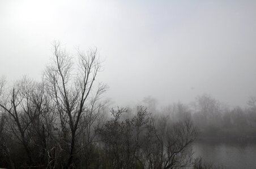
<path id="1" fill-rule="evenodd" d="M 5 168 L 206 168 L 193 157 L 196 137 L 250 139 L 256 106 L 229 109 L 207 95 L 194 104 L 157 110 L 108 108 L 97 82 L 97 51 L 77 60 L 58 43 L 40 82 L 0 81 L 0 167 Z"/>

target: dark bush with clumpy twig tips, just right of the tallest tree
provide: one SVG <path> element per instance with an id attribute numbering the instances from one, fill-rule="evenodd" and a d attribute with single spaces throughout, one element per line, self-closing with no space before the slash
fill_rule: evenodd
<path id="1" fill-rule="evenodd" d="M 136 168 L 141 161 L 143 136 L 149 121 L 148 113 L 138 106 L 136 115 L 121 120 L 126 109 L 111 110 L 112 118 L 98 129 L 103 141 L 106 168 Z"/>

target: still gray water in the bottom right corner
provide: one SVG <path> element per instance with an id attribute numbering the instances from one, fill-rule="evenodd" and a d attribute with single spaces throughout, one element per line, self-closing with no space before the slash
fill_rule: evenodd
<path id="1" fill-rule="evenodd" d="M 195 157 L 223 165 L 227 168 L 256 168 L 256 143 L 208 143 L 193 144 Z"/>

